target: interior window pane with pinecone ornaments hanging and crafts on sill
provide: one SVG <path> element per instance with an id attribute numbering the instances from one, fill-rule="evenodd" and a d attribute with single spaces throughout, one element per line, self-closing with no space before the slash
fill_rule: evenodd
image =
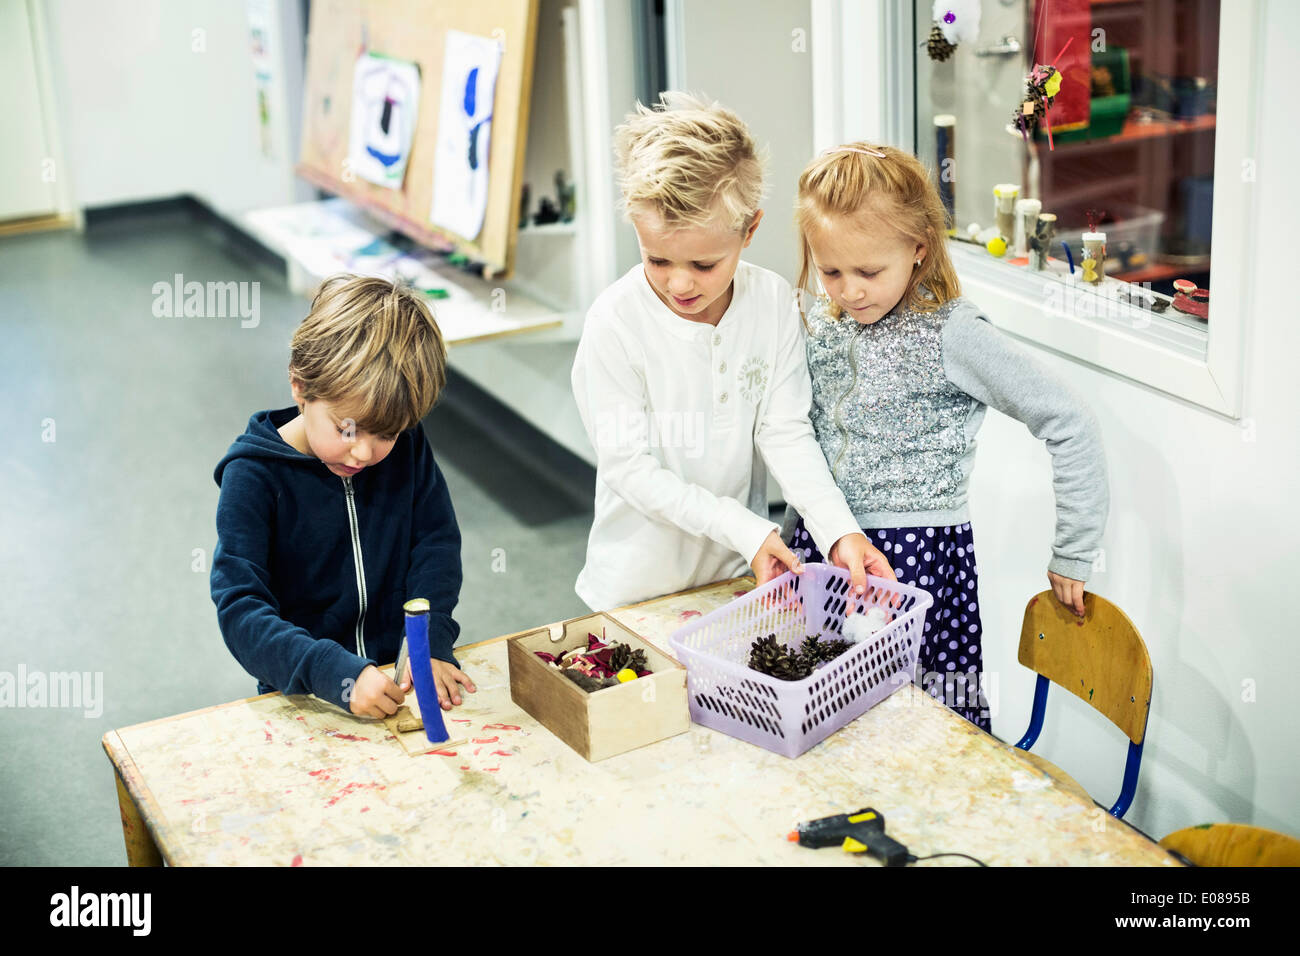
<path id="1" fill-rule="evenodd" d="M 953 238 L 1206 328 L 1219 0 L 915 0 L 914 16 L 916 151 Z"/>

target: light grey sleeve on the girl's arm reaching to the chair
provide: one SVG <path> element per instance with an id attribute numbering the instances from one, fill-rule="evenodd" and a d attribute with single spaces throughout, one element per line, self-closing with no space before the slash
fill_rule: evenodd
<path id="1" fill-rule="evenodd" d="M 949 316 L 942 350 L 949 381 L 1023 421 L 1046 444 L 1057 512 L 1048 570 L 1087 580 L 1110 507 L 1101 429 L 1092 411 L 974 308 Z"/>

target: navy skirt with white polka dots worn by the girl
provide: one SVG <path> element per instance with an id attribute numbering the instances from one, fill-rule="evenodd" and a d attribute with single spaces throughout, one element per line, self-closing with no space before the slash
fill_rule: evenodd
<path id="1" fill-rule="evenodd" d="M 898 580 L 924 588 L 935 598 L 926 613 L 916 683 L 982 730 L 992 732 L 983 695 L 984 630 L 979 619 L 979 572 L 971 525 L 939 528 L 863 528 L 867 540 L 889 559 Z M 803 527 L 786 542 L 803 561 L 824 562 Z"/>

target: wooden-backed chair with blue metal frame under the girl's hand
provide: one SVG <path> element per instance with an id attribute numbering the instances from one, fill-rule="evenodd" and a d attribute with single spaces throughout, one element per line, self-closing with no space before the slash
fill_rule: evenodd
<path id="1" fill-rule="evenodd" d="M 1110 808 L 1113 816 L 1122 818 L 1132 804 L 1141 767 L 1141 745 L 1150 713 L 1150 656 L 1138 628 L 1122 610 L 1089 593 L 1083 596 L 1083 605 L 1084 615 L 1076 618 L 1050 591 L 1044 591 L 1030 598 L 1024 609 L 1018 658 L 1039 679 L 1030 727 L 1015 745 L 1028 752 L 1039 739 L 1050 683 L 1089 704 L 1128 737 L 1123 787 Z M 1083 787 L 1050 761 L 1037 754 L 1026 756 L 1067 788 L 1087 796 Z"/>

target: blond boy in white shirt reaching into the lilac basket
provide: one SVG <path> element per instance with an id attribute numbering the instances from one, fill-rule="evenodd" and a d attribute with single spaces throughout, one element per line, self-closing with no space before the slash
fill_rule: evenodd
<path id="1" fill-rule="evenodd" d="M 607 610 L 802 564 L 767 516 L 767 472 L 823 554 L 893 579 L 809 423 L 790 285 L 744 263 L 763 212 L 753 137 L 719 104 L 666 92 L 615 131 L 641 263 L 592 304 L 573 395 L 597 453 L 595 518 L 576 591 Z"/>

